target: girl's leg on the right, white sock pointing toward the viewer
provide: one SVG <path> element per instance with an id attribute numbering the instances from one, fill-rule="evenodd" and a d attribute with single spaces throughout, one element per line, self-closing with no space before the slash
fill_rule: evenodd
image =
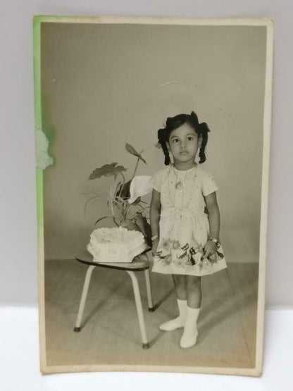
<path id="1" fill-rule="evenodd" d="M 201 307 L 201 277 L 187 275 L 187 312 L 181 347 L 192 347 L 197 342 L 197 318 Z"/>

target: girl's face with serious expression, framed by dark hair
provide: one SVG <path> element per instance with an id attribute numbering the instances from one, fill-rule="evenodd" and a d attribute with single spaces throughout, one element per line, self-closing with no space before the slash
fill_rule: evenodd
<path id="1" fill-rule="evenodd" d="M 199 136 L 194 128 L 184 123 L 170 132 L 168 144 L 174 163 L 191 163 L 199 149 Z"/>

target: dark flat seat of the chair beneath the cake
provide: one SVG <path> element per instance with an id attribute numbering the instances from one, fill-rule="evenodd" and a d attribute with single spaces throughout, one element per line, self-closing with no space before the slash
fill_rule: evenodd
<path id="1" fill-rule="evenodd" d="M 147 258 L 146 252 L 149 252 L 151 248 L 146 249 L 142 254 L 135 256 L 132 262 L 94 262 L 94 257 L 86 249 L 80 254 L 75 256 L 75 259 L 81 263 L 87 265 L 94 265 L 101 268 L 112 268 L 125 271 L 144 271 L 149 268 L 149 260 Z"/>

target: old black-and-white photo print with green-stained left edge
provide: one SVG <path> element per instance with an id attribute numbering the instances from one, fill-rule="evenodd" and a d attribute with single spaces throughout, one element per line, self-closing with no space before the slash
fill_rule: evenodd
<path id="1" fill-rule="evenodd" d="M 268 19 L 34 18 L 42 373 L 261 376 Z"/>

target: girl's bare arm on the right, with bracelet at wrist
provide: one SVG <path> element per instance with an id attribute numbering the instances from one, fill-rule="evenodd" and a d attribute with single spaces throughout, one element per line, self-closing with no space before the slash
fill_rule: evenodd
<path id="1" fill-rule="evenodd" d="M 210 236 L 219 240 L 220 237 L 220 211 L 218 207 L 216 192 L 208 194 L 205 198 L 206 208 L 208 209 L 208 222 L 210 225 Z M 216 243 L 208 240 L 204 247 L 206 250 L 206 257 L 215 254 L 217 246 Z"/>

